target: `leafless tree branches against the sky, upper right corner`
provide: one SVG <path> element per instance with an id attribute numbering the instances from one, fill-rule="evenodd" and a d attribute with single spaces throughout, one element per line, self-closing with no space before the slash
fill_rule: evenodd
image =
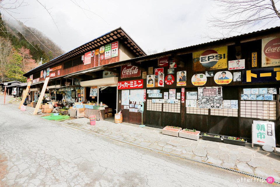
<path id="1" fill-rule="evenodd" d="M 260 24 L 275 25 L 280 19 L 279 0 L 214 0 L 216 10 L 220 17 L 213 16 L 210 20 L 210 28 L 216 28 L 221 39 L 236 34 L 243 34 L 242 30 Z M 210 37 L 213 39 L 213 37 Z"/>

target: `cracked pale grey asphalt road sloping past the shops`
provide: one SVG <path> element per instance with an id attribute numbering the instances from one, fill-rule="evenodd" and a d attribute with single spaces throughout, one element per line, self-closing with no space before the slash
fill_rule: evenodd
<path id="1" fill-rule="evenodd" d="M 46 121 L 17 106 L 4 106 L 0 96 L 0 186 L 271 186 Z"/>

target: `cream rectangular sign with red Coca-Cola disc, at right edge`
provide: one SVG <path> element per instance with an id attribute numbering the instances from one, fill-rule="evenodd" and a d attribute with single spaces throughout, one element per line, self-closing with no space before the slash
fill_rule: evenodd
<path id="1" fill-rule="evenodd" d="M 262 39 L 262 67 L 280 65 L 280 37 Z"/>

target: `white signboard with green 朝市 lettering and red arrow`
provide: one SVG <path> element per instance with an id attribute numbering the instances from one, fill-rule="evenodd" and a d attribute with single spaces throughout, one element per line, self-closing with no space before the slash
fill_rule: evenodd
<path id="1" fill-rule="evenodd" d="M 252 140 L 254 144 L 276 147 L 274 122 L 254 120 L 252 127 Z"/>

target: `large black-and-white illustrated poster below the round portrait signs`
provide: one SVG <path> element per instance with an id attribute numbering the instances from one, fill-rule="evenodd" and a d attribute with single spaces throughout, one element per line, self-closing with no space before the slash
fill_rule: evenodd
<path id="1" fill-rule="evenodd" d="M 198 87 L 198 108 L 223 109 L 222 87 Z"/>

